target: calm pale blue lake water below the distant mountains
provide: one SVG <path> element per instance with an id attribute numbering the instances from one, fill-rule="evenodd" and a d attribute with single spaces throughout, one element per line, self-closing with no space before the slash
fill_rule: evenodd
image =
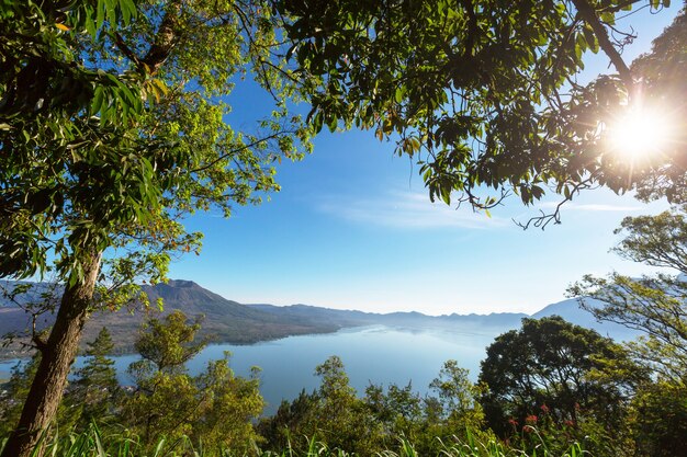
<path id="1" fill-rule="evenodd" d="M 290 336 L 252 345 L 214 344 L 205 347 L 189 362 L 196 374 L 207 361 L 232 353 L 230 366 L 237 375 L 248 376 L 251 366 L 262 368 L 261 392 L 268 402 L 266 414 L 273 413 L 282 399 L 295 398 L 302 389 L 311 391 L 319 385 L 315 367 L 331 355 L 338 355 L 359 393 L 370 384 L 401 386 L 413 382 L 414 390 L 424 393 L 437 377 L 442 364 L 455 359 L 470 369 L 476 379 L 486 346 L 506 329 L 453 328 L 451 330 L 408 329 L 371 325 L 344 329 L 336 333 Z M 126 367 L 137 357 L 113 357 L 120 381 L 131 384 Z M 77 359 L 77 366 L 82 364 Z M 0 377 L 16 363 L 0 363 Z M 4 373 L 3 373 L 4 372 Z M 3 376 L 4 375 L 4 376 Z"/>

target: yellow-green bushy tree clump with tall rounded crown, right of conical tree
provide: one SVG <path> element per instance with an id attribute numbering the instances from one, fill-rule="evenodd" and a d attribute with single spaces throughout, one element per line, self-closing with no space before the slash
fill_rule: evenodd
<path id="1" fill-rule="evenodd" d="M 189 436 L 207 452 L 245 453 L 256 438 L 251 422 L 264 404 L 258 370 L 248 379 L 236 377 L 225 354 L 190 376 L 185 363 L 205 346 L 194 341 L 199 329 L 180 311 L 143 328 L 136 342 L 142 359 L 128 369 L 136 391 L 124 402 L 123 419 L 146 445 Z"/>

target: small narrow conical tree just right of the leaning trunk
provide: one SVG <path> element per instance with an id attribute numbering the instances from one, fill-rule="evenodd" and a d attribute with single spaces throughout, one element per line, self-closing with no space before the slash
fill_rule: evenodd
<path id="1" fill-rule="evenodd" d="M 95 340 L 88 343 L 86 363 L 76 370 L 66 396 L 66 403 L 81 409 L 81 422 L 106 423 L 114 415 L 120 384 L 116 378 L 114 361 L 109 357 L 114 343 L 106 327 L 98 333 Z"/>

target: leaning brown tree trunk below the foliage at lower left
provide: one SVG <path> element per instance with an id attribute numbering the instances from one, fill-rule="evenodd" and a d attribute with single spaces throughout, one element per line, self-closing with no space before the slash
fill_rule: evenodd
<path id="1" fill-rule="evenodd" d="M 0 457 L 29 457 L 42 434 L 55 419 L 67 385 L 67 375 L 79 349 L 83 324 L 88 319 L 100 253 L 83 260 L 83 278 L 67 285 L 50 335 L 40 347 L 41 364 L 31 385 L 16 429 L 10 435 Z M 37 455 L 42 455 L 41 450 Z"/>

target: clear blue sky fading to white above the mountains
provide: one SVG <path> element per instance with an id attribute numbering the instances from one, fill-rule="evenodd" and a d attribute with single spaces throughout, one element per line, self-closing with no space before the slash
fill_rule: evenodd
<path id="1" fill-rule="evenodd" d="M 676 12 L 628 18 L 639 37 L 623 57 L 647 52 Z M 607 72 L 604 56 L 587 57 L 587 77 Z M 238 91 L 230 121 L 248 125 L 261 96 Z M 277 179 L 282 191 L 262 205 L 237 207 L 230 219 L 215 213 L 188 219 L 189 230 L 205 233 L 203 251 L 172 263 L 169 277 L 247 304 L 533 313 L 565 299 L 584 274 L 646 273 L 609 252 L 621 239 L 613 229 L 626 216 L 667 208 L 587 191 L 564 206 L 562 224 L 522 230 L 515 221 L 551 209 L 555 195 L 536 207 L 511 197 L 491 217 L 432 204 L 417 165 L 394 156 L 391 142 L 358 130 L 323 130 L 314 152 L 283 162 Z"/>

